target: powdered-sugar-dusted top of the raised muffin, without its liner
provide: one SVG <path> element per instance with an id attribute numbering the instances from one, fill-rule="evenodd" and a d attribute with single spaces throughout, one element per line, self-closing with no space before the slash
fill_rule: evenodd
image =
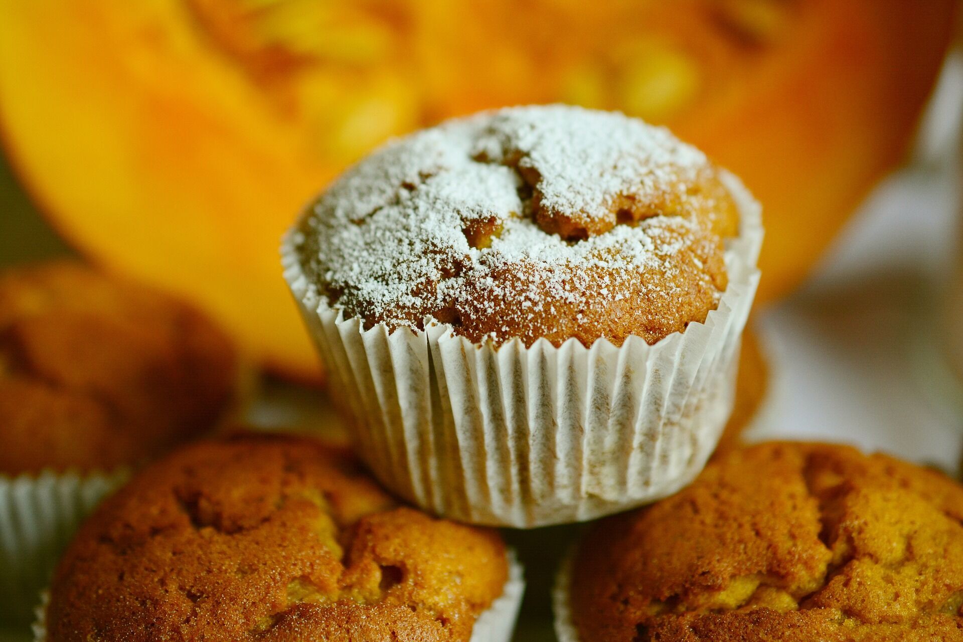
<path id="1" fill-rule="evenodd" d="M 312 294 L 366 327 L 652 344 L 715 309 L 738 217 L 721 171 L 665 129 L 520 107 L 381 147 L 320 196 L 294 244 Z"/>

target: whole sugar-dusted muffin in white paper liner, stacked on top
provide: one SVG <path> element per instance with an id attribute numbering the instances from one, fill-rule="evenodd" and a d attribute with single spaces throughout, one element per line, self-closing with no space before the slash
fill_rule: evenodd
<path id="1" fill-rule="evenodd" d="M 445 516 L 541 526 L 698 473 L 761 239 L 758 205 L 697 149 L 555 105 L 388 143 L 282 255 L 381 481 Z"/>

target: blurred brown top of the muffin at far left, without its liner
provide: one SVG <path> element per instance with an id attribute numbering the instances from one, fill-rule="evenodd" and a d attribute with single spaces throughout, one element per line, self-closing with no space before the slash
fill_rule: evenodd
<path id="1" fill-rule="evenodd" d="M 0 473 L 137 463 L 221 418 L 236 362 L 168 295 L 69 262 L 0 272 Z"/>

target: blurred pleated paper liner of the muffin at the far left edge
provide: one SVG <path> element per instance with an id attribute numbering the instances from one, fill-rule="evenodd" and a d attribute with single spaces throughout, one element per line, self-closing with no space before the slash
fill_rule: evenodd
<path id="1" fill-rule="evenodd" d="M 29 622 L 74 531 L 126 471 L 0 475 L 0 616 Z"/>

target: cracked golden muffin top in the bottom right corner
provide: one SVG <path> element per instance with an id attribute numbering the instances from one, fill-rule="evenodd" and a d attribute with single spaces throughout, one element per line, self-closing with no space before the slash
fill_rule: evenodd
<path id="1" fill-rule="evenodd" d="M 891 457 L 769 443 L 580 545 L 582 642 L 961 640 L 963 487 Z"/>

